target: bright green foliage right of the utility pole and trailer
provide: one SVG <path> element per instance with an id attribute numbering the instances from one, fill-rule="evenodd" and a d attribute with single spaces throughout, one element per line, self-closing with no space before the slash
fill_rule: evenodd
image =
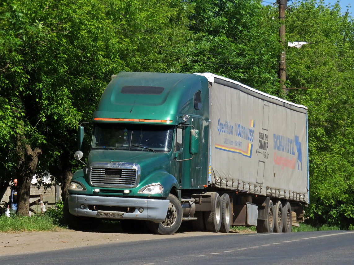
<path id="1" fill-rule="evenodd" d="M 289 86 L 307 87 L 290 99 L 308 106 L 309 169 L 313 223 L 348 227 L 354 221 L 354 35 L 348 12 L 338 3 L 292 4 L 287 40 L 306 41 L 287 49 Z"/>

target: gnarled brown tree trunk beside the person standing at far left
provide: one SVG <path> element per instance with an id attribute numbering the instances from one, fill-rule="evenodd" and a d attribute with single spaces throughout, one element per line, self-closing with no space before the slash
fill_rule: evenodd
<path id="1" fill-rule="evenodd" d="M 17 141 L 17 153 L 20 155 L 17 166 L 17 213 L 20 216 L 28 216 L 31 181 L 38 165 L 38 154 L 41 153 L 41 150 L 38 147 L 32 149 L 28 144 L 23 143 L 23 140 L 25 137 L 19 136 Z"/>

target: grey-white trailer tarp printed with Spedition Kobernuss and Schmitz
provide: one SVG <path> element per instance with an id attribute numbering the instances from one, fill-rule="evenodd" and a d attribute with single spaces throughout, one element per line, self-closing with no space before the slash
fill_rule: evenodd
<path id="1" fill-rule="evenodd" d="M 227 78 L 209 80 L 210 181 L 308 202 L 307 108 Z"/>

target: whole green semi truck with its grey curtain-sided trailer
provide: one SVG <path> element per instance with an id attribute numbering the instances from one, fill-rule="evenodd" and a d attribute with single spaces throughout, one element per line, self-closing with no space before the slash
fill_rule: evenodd
<path id="1" fill-rule="evenodd" d="M 290 232 L 309 202 L 307 108 L 212 73 L 120 72 L 79 126 L 67 222 L 102 219 L 172 234 Z"/>

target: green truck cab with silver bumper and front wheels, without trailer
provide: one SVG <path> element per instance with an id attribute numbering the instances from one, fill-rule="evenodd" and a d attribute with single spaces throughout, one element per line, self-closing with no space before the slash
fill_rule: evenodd
<path id="1" fill-rule="evenodd" d="M 146 220 L 154 232 L 175 232 L 181 189 L 208 185 L 208 89 L 199 75 L 116 75 L 93 113 L 87 166 L 70 183 L 69 223 L 92 228 L 102 218 Z M 79 149 L 83 137 L 80 127 Z"/>

